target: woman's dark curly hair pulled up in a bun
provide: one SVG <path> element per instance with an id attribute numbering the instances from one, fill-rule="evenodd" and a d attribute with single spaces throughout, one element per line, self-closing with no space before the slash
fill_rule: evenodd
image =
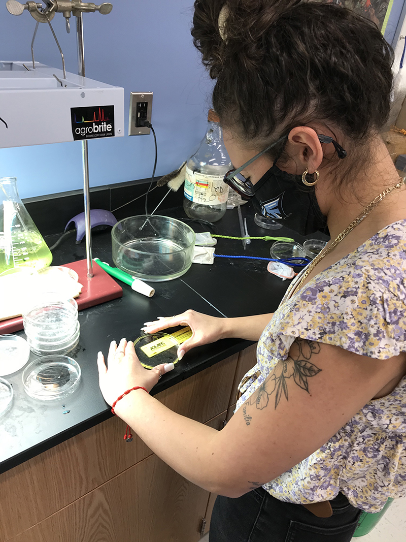
<path id="1" fill-rule="evenodd" d="M 197 0 L 194 9 L 193 43 L 217 79 L 214 109 L 245 141 L 322 121 L 357 144 L 387 121 L 393 51 L 374 23 L 315 0 Z"/>

